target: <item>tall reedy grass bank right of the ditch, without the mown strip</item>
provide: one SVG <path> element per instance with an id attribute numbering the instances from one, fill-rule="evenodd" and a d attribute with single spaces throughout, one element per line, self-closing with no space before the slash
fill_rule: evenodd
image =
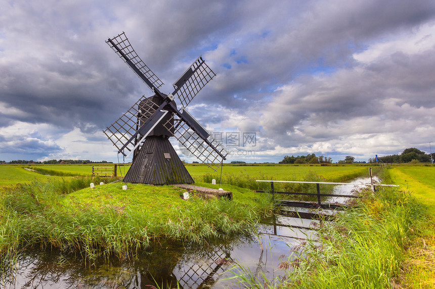
<path id="1" fill-rule="evenodd" d="M 242 279 L 256 288 L 401 288 L 406 248 L 427 232 L 424 210 L 410 194 L 394 189 L 367 192 L 358 205 L 321 224 L 316 240 L 281 260 L 284 278 L 234 272 L 247 273 Z"/>

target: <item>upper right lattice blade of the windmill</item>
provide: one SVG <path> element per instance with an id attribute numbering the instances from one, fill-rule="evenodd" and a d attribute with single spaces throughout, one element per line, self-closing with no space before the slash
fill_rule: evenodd
<path id="1" fill-rule="evenodd" d="M 173 84 L 173 95 L 178 96 L 182 106 L 192 101 L 196 94 L 216 75 L 207 66 L 201 56 L 186 70 L 186 72 Z"/>

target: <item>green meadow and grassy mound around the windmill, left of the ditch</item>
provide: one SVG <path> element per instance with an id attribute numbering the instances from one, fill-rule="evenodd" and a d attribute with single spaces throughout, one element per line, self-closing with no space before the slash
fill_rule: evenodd
<path id="1" fill-rule="evenodd" d="M 7 185 L 1 192 L 0 210 L 7 217 L 0 219 L 0 251 L 42 244 L 42 247 L 75 248 L 91 257 L 95 251 L 134 252 L 146 248 L 149 240 L 155 238 L 188 238 L 200 243 L 207 238 L 247 232 L 275 208 L 269 195 L 255 194 L 248 188 L 258 187 L 255 179 L 265 177 L 264 174 L 270 179 L 275 176 L 306 180 L 308 175 L 331 181 L 367 172 L 367 167 L 353 166 L 226 165 L 221 187 L 233 192 L 233 202 L 204 201 L 200 197 L 185 202 L 180 198 L 180 189 L 173 186 L 129 184 L 128 191 L 123 191 L 123 184 L 117 182 L 91 189 L 91 182 L 114 181 L 90 178 L 92 165 L 27 166 L 43 174 L 56 172 L 64 177 L 28 171 L 25 166 L 0 166 L 4 173 L 2 182 Z M 210 184 L 212 175 L 207 174 L 210 171 L 207 166 L 187 168 L 197 185 L 218 188 Z M 238 186 L 225 181 L 236 182 Z"/>

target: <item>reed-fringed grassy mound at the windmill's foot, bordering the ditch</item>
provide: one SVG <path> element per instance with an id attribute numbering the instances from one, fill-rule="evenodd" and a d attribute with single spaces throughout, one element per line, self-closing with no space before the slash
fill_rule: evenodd
<path id="1" fill-rule="evenodd" d="M 120 258 L 146 249 L 151 239 L 226 238 L 248 232 L 272 212 L 267 195 L 223 186 L 234 201 L 180 195 L 172 186 L 122 183 L 89 188 L 90 179 L 35 182 L 12 188 L 0 205 L 0 252 L 13 254 L 29 246 L 78 251 L 89 259 L 99 254 Z M 94 180 L 99 184 L 100 180 Z M 76 190 L 78 187 L 86 187 Z"/>

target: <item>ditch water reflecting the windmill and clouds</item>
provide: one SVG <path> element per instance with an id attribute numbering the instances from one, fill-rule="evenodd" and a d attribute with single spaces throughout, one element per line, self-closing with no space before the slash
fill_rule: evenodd
<path id="1" fill-rule="evenodd" d="M 370 183 L 370 178 L 358 178 L 352 183 Z M 352 195 L 355 189 L 354 185 L 336 186 L 334 193 Z M 345 201 L 342 197 L 327 200 Z M 152 289 L 156 284 L 175 288 L 178 282 L 182 288 L 238 288 L 235 279 L 227 279 L 234 276 L 228 270 L 235 262 L 269 279 L 281 276 L 284 274 L 279 269 L 281 261 L 294 256 L 303 240 L 315 237 L 315 231 L 310 228 L 318 223 L 318 220 L 277 215 L 258 226 L 258 235 L 237 236 L 225 242 L 210 241 L 204 246 L 160 241 L 135 258 L 98 259 L 91 264 L 79 254 L 26 250 L 17 256 L 12 268 L 0 268 L 0 287 Z"/>

